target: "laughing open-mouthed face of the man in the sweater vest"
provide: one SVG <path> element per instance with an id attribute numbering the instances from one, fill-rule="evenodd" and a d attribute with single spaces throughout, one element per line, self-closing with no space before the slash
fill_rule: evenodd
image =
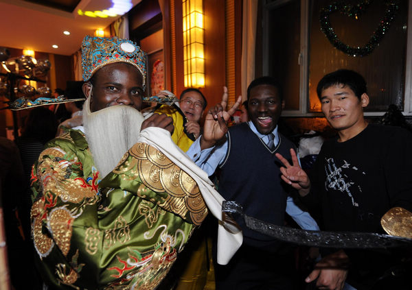
<path id="1" fill-rule="evenodd" d="M 260 134 L 269 134 L 276 128 L 283 107 L 284 102 L 275 86 L 260 84 L 251 89 L 247 110 Z"/>

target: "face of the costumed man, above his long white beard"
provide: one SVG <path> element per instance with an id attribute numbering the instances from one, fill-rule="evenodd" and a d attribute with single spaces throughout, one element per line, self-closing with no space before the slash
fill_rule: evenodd
<path id="1" fill-rule="evenodd" d="M 143 77 L 133 65 L 114 62 L 96 71 L 93 86 L 84 84 L 83 92 L 91 96 L 91 112 L 115 105 L 133 106 L 140 110 L 144 94 Z"/>

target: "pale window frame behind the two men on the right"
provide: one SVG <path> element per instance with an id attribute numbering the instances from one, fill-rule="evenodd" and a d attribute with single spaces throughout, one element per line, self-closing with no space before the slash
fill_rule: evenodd
<path id="1" fill-rule="evenodd" d="M 269 64 L 266 59 L 268 56 L 268 17 L 269 10 L 285 5 L 292 0 L 277 0 L 267 3 L 262 1 L 262 47 L 263 47 L 263 64 L 262 70 L 264 75 L 269 73 Z M 404 90 L 404 116 L 412 116 L 412 0 L 408 0 L 408 27 L 407 27 L 407 57 L 405 66 L 405 90 Z M 308 111 L 308 74 L 309 74 L 309 1 L 301 0 L 301 15 L 300 15 L 300 53 L 297 62 L 300 66 L 299 73 L 299 110 L 283 110 L 284 117 L 323 117 L 321 112 Z M 379 117 L 385 112 L 365 112 L 367 117 Z"/>

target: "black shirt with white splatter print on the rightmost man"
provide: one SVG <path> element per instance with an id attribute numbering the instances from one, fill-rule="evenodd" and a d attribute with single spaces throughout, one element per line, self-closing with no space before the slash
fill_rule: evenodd
<path id="1" fill-rule="evenodd" d="M 302 200 L 320 206 L 322 230 L 385 233 L 380 218 L 387 210 L 401 206 L 412 211 L 412 134 L 369 124 L 348 141 L 323 143 L 312 173 L 311 192 Z M 348 280 L 369 279 L 370 284 L 408 250 L 345 252 L 352 262 Z"/>

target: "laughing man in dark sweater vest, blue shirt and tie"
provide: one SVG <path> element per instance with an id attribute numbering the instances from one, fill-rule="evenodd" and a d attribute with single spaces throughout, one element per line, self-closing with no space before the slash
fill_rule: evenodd
<path id="1" fill-rule="evenodd" d="M 284 107 L 280 86 L 271 77 L 260 77 L 249 85 L 247 99 L 251 121 L 228 129 L 226 121 L 240 99 L 226 111 L 225 90 L 222 103 L 206 116 L 203 135 L 187 154 L 209 175 L 219 167 L 219 193 L 242 205 L 245 214 L 284 226 L 286 211 L 299 226 L 317 230 L 308 213 L 293 200 L 287 202 L 288 188 L 279 177 L 281 164 L 275 153 L 290 158 L 290 149 L 295 149 L 277 132 Z M 238 222 L 244 243 L 228 265 L 216 265 L 216 289 L 295 289 L 294 258 L 288 246 Z"/>

